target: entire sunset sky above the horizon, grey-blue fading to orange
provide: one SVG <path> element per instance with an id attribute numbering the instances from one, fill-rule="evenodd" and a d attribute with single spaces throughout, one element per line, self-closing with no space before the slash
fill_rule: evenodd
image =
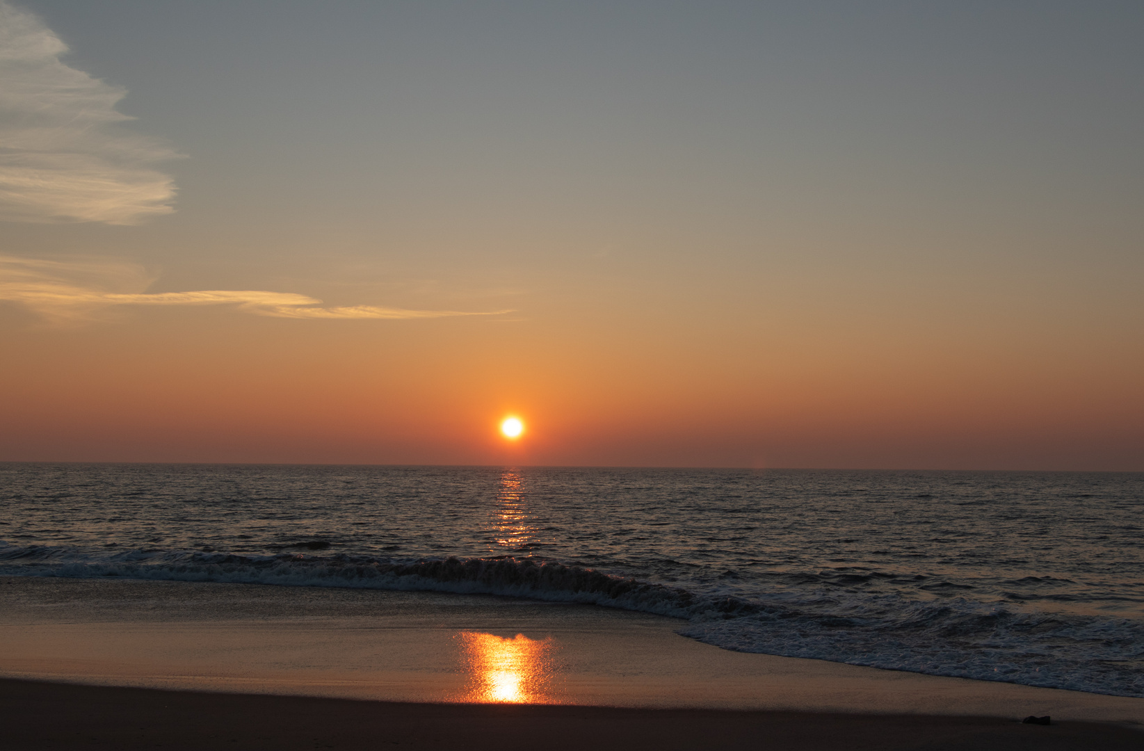
<path id="1" fill-rule="evenodd" d="M 0 461 L 1144 470 L 1142 38 L 0 0 Z"/>

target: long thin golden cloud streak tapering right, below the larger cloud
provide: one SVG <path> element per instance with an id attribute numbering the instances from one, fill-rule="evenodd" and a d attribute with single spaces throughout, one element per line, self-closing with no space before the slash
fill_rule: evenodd
<path id="1" fill-rule="evenodd" d="M 47 261 L 0 256 L 0 299 L 18 303 L 51 320 L 82 320 L 124 305 L 237 305 L 276 318 L 411 319 L 450 315 L 499 315 L 513 311 L 466 312 L 408 310 L 376 305 L 324 306 L 295 293 L 261 289 L 205 289 L 145 293 L 153 277 L 138 264 L 106 261 Z"/>

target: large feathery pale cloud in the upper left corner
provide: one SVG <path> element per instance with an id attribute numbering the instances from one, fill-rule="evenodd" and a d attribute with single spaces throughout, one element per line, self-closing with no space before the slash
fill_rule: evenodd
<path id="1" fill-rule="evenodd" d="M 67 46 L 0 0 L 0 219 L 135 224 L 173 209 L 152 165 L 176 157 L 130 133 L 127 94 L 61 61 Z"/>

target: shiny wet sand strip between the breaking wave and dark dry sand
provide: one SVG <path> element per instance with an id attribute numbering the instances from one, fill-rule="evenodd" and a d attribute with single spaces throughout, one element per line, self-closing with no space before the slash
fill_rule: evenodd
<path id="1" fill-rule="evenodd" d="M 1144 698 L 730 652 L 680 636 L 677 620 L 598 606 L 221 583 L 0 584 L 0 678 L 24 686 L 804 718 L 1049 714 L 1144 728 Z"/>

